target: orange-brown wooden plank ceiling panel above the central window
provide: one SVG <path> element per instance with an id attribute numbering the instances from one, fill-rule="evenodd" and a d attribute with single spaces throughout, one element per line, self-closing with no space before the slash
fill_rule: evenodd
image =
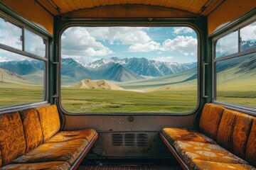
<path id="1" fill-rule="evenodd" d="M 223 0 L 38 0 L 43 6 L 49 9 L 53 15 L 57 15 L 52 12 L 49 5 L 45 1 L 50 1 L 55 8 L 60 8 L 60 13 L 72 13 L 82 9 L 95 8 L 100 6 L 113 6 L 113 5 L 124 5 L 124 4 L 135 4 L 145 6 L 159 6 L 170 9 L 178 9 L 188 13 L 198 14 L 201 13 L 201 9 L 209 4 L 211 1 L 223 1 Z M 212 8 L 213 9 L 213 8 Z M 67 16 L 67 15 L 65 15 Z"/>

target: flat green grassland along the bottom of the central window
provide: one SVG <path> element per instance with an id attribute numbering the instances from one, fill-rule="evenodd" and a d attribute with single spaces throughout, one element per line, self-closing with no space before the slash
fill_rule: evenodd
<path id="1" fill-rule="evenodd" d="M 61 104 L 70 113 L 188 113 L 196 91 L 114 91 L 62 88 Z"/>

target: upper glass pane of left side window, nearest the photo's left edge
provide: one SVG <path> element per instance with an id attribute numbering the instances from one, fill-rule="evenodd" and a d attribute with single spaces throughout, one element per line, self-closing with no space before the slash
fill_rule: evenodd
<path id="1" fill-rule="evenodd" d="M 0 18 L 0 43 L 22 50 L 22 30 L 8 21 Z"/>

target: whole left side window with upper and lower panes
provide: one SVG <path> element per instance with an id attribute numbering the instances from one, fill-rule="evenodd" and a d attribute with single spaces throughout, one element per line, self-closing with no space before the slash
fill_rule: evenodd
<path id="1" fill-rule="evenodd" d="M 0 107 L 46 100 L 46 38 L 0 18 Z"/>

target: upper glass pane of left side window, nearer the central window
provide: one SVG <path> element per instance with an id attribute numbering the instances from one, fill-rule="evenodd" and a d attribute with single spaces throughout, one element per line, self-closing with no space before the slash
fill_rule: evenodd
<path id="1" fill-rule="evenodd" d="M 46 43 L 41 36 L 25 29 L 25 51 L 34 55 L 46 57 Z"/>

